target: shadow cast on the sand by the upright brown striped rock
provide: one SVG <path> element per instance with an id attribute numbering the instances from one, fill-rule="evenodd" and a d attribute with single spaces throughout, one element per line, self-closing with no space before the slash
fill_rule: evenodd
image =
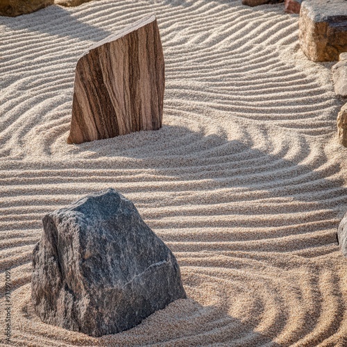
<path id="1" fill-rule="evenodd" d="M 325 199 L 332 199 L 330 207 L 342 201 L 347 204 L 347 189 L 342 178 L 330 178 L 339 173 L 338 163 L 327 164 L 323 151 L 315 151 L 314 144 L 303 136 L 293 144 L 283 139 L 280 148 L 274 141 L 264 139 L 262 147 L 269 148 L 266 151 L 255 148 L 246 129 L 243 142 L 228 140 L 222 130 L 205 135 L 203 129 L 193 131 L 185 126 L 164 125 L 156 131 L 73 145 L 71 153 L 79 152 L 83 157 L 87 154 L 91 160 L 133 158 L 136 161 L 129 162 L 128 169 L 155 170 L 158 179 L 171 176 L 177 180 L 210 180 L 210 189 L 266 189 L 269 196 L 317 202 L 321 202 L 324 195 Z M 294 159 L 286 159 L 288 156 Z"/>

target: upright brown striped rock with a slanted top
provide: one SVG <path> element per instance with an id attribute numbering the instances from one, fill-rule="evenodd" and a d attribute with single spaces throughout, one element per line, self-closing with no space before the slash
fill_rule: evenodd
<path id="1" fill-rule="evenodd" d="M 164 56 L 154 15 L 97 42 L 76 66 L 69 144 L 162 126 Z"/>

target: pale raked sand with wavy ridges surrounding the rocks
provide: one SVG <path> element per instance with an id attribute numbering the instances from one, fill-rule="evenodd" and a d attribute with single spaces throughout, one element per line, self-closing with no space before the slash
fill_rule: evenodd
<path id="1" fill-rule="evenodd" d="M 347 346 L 336 242 L 347 151 L 331 64 L 303 56 L 298 17 L 282 5 L 240 2 L 101 0 L 1 17 L 0 286 L 11 266 L 12 344 Z M 151 12 L 166 59 L 162 129 L 68 145 L 76 59 Z M 46 212 L 108 187 L 174 251 L 189 299 L 94 339 L 35 316 L 31 252 Z"/>

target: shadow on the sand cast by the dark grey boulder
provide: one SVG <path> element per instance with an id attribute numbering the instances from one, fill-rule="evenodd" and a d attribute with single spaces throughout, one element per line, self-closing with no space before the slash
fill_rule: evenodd
<path id="1" fill-rule="evenodd" d="M 139 346 L 144 341 L 146 346 L 282 346 L 273 341 L 280 332 L 278 330 L 283 328 L 282 324 L 278 325 L 277 331 L 274 329 L 264 334 L 255 331 L 258 321 L 252 319 L 245 323 L 230 316 L 222 307 L 203 306 L 187 298 L 174 301 L 164 310 L 151 314 L 137 327 L 118 335 L 101 337 L 99 342 L 115 346 Z M 161 327 L 164 327 L 164 334 Z"/>

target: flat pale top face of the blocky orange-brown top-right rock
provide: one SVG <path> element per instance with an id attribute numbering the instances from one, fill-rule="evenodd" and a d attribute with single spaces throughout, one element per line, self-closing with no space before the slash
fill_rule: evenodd
<path id="1" fill-rule="evenodd" d="M 328 19 L 347 21 L 346 0 L 305 0 L 301 6 L 314 22 L 327 22 Z"/>

